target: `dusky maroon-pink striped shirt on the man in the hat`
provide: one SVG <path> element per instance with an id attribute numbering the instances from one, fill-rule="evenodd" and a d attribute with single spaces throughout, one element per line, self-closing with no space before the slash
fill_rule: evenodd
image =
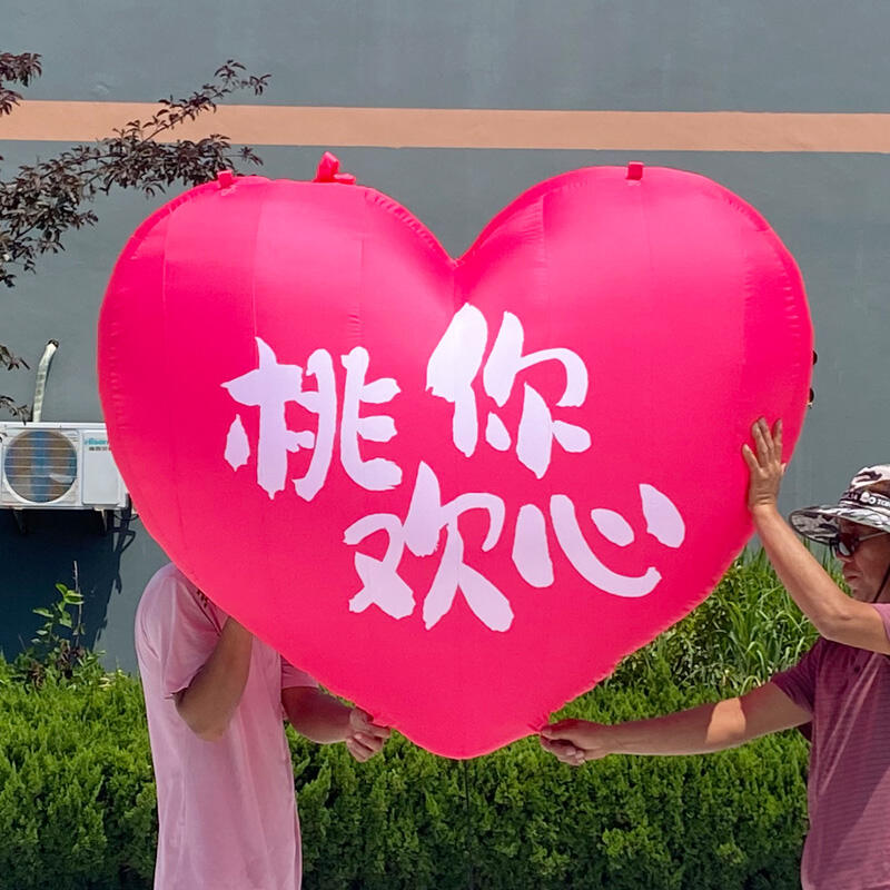
<path id="1" fill-rule="evenodd" d="M 890 657 L 819 640 L 772 682 L 813 715 L 803 889 L 890 890 Z"/>

